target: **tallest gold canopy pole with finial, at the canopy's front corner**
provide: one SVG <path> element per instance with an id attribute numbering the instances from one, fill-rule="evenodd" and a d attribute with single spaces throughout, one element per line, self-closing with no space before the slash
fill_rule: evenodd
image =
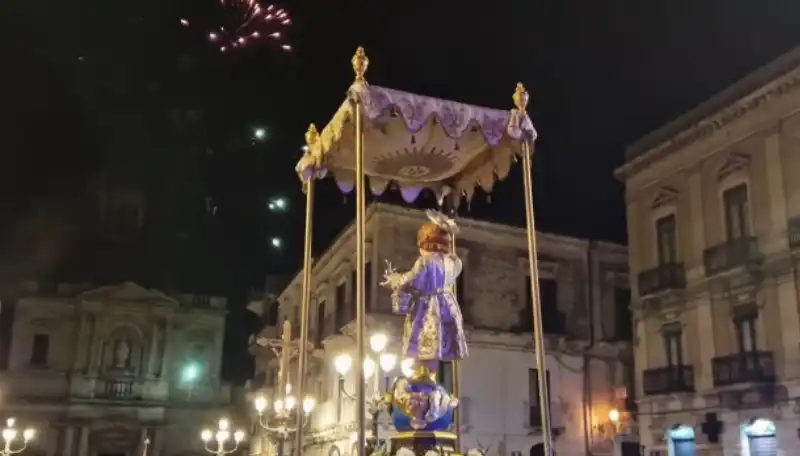
<path id="1" fill-rule="evenodd" d="M 364 73 L 367 72 L 369 59 L 364 53 L 363 47 L 356 49 L 351 63 L 353 64 L 353 71 L 356 73 L 355 84 L 366 84 Z M 364 350 L 364 333 L 366 332 L 364 328 L 366 317 L 364 315 L 364 230 L 366 228 L 364 226 L 364 212 L 366 210 L 366 197 L 364 195 L 364 110 L 360 97 L 356 96 L 354 102 L 356 104 L 356 359 L 358 360 L 356 366 L 356 378 L 358 379 L 356 382 L 356 406 L 358 407 L 356 412 L 358 417 L 356 439 L 358 440 L 358 456 L 366 456 L 366 384 L 363 380 L 363 361 L 366 357 Z"/>

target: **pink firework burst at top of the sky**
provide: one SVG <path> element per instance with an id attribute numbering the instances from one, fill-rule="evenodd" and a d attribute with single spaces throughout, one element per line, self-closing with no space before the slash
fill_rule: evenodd
<path id="1" fill-rule="evenodd" d="M 292 24 L 289 13 L 275 5 L 262 5 L 258 0 L 220 0 L 218 23 L 197 24 L 186 17 L 182 26 L 203 33 L 206 41 L 220 52 L 231 52 L 247 46 L 273 43 L 285 52 L 292 50 L 284 31 Z"/>

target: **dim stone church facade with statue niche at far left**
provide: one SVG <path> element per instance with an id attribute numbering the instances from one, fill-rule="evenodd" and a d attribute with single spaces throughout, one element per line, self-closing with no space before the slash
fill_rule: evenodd
<path id="1" fill-rule="evenodd" d="M 202 453 L 230 405 L 226 305 L 130 282 L 23 285 L 0 314 L 4 418 L 35 428 L 42 456 L 133 456 L 146 438 L 153 456 Z"/>

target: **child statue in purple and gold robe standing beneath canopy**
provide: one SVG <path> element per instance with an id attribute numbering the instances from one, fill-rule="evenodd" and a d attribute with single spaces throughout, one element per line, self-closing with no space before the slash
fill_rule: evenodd
<path id="1" fill-rule="evenodd" d="M 381 285 L 392 290 L 392 310 L 406 315 L 403 354 L 415 361 L 414 379 L 432 379 L 439 361 L 467 357 L 464 321 L 456 300 L 462 263 L 454 252 L 455 222 L 428 211 L 417 232 L 419 257 L 400 273 L 388 264 Z M 388 262 L 387 262 L 388 263 Z"/>

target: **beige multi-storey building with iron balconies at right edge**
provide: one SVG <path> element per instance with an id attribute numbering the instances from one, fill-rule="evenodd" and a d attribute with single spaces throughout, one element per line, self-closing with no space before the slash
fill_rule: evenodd
<path id="1" fill-rule="evenodd" d="M 633 144 L 617 170 L 648 455 L 796 453 L 798 111 L 800 48 Z"/>

